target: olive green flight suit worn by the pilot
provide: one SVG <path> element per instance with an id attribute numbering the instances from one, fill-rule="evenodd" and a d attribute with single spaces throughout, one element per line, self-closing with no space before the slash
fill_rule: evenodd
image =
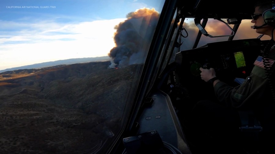
<path id="1" fill-rule="evenodd" d="M 268 58 L 275 59 L 274 46 L 270 49 Z M 272 65 L 272 70 L 275 68 L 274 65 L 275 63 Z M 214 87 L 214 92 L 220 102 L 237 109 L 255 107 L 262 101 L 273 101 L 265 69 L 257 65 L 253 67 L 250 76 L 241 85 L 232 87 L 225 82 L 218 82 Z"/>

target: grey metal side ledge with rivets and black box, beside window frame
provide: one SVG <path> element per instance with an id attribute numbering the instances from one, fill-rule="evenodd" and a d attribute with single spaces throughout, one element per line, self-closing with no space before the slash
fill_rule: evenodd
<path id="1" fill-rule="evenodd" d="M 127 153 L 191 154 L 170 97 L 156 91 L 150 98 L 138 120 L 138 135 L 123 138 Z"/>

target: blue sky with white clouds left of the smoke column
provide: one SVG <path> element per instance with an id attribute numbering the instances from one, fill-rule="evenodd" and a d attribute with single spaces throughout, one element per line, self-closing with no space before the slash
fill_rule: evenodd
<path id="1" fill-rule="evenodd" d="M 0 70 L 70 58 L 107 56 L 114 26 L 163 0 L 1 0 Z"/>

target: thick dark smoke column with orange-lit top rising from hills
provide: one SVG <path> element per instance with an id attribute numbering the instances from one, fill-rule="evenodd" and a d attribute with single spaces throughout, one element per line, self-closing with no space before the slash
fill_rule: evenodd
<path id="1" fill-rule="evenodd" d="M 109 68 L 144 63 L 158 19 L 159 12 L 155 9 L 143 8 L 130 12 L 124 22 L 116 25 L 116 47 L 108 54 L 111 58 Z"/>

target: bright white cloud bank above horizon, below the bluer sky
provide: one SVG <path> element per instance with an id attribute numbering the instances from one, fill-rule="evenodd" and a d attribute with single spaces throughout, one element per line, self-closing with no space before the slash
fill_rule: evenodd
<path id="1" fill-rule="evenodd" d="M 1 21 L 0 70 L 69 58 L 107 56 L 115 46 L 114 26 L 124 20 L 71 24 Z"/>

